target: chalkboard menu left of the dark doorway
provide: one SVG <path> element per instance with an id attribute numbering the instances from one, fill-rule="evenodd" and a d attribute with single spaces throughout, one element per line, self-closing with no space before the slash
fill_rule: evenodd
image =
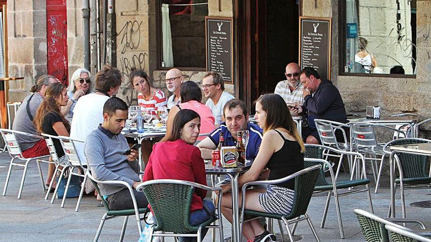
<path id="1" fill-rule="evenodd" d="M 225 82 L 233 84 L 232 18 L 205 18 L 207 71 L 217 71 Z"/>

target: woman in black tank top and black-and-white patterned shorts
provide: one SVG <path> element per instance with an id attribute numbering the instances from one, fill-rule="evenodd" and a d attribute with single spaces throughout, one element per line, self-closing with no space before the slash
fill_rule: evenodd
<path id="1" fill-rule="evenodd" d="M 262 179 L 261 171 L 270 170 L 269 180 L 280 179 L 304 168 L 304 143 L 296 130 L 286 103 L 278 94 L 266 94 L 256 101 L 256 121 L 263 129 L 263 139 L 259 153 L 250 169 L 239 176 L 239 187 Z M 260 177 L 261 176 L 261 177 Z M 293 204 L 294 179 L 268 185 L 267 188 L 254 188 L 246 192 L 245 209 L 287 215 Z M 230 191 L 230 185 L 223 186 L 223 192 Z M 239 193 L 241 204 L 241 193 Z M 232 223 L 232 195 L 223 193 L 222 213 Z M 275 241 L 275 236 L 266 231 L 259 220 L 242 224 L 242 233 L 248 241 Z"/>

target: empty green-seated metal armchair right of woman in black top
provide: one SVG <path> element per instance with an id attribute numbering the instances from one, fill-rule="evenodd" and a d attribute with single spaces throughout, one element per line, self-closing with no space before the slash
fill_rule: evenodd
<path id="1" fill-rule="evenodd" d="M 363 157 L 362 154 L 359 154 L 359 153 L 340 151 L 340 150 L 336 150 L 335 148 L 322 146 L 322 145 L 306 144 L 305 148 L 306 148 L 305 155 L 304 155 L 304 157 L 306 157 L 305 162 L 304 162 L 305 167 L 313 166 L 316 163 L 323 164 L 324 166 L 325 165 L 329 166 L 330 163 L 328 161 L 322 159 L 322 155 L 323 155 L 324 150 L 330 150 L 331 152 L 333 152 L 335 154 L 339 154 L 341 156 L 340 163 L 338 164 L 338 167 L 337 167 L 337 172 L 339 171 L 339 169 L 341 167 L 343 155 L 352 156 L 354 163 L 356 163 L 357 160 L 359 160 L 360 165 L 356 166 L 359 168 L 355 169 L 356 164 L 353 164 L 353 166 L 352 166 L 352 167 L 354 167 L 354 169 L 352 170 L 351 177 L 354 177 L 353 173 L 356 171 L 359 174 L 359 176 L 357 176 L 357 177 L 362 177 L 361 179 L 337 180 L 337 176 L 334 175 L 334 171 L 332 169 L 329 169 L 329 172 L 331 175 L 331 181 L 328 182 L 325 178 L 324 169 L 323 169 L 324 166 L 322 166 L 322 169 L 319 173 L 319 176 L 317 177 L 317 181 L 316 181 L 316 184 L 314 187 L 314 193 L 328 192 L 328 198 L 326 200 L 325 209 L 323 212 L 323 218 L 322 218 L 320 228 L 323 228 L 325 225 L 326 215 L 328 213 L 328 208 L 329 208 L 329 202 L 331 201 L 331 194 L 334 193 L 335 207 L 336 207 L 336 212 L 337 212 L 337 217 L 338 217 L 338 225 L 339 225 L 339 229 L 340 229 L 340 236 L 341 236 L 341 239 L 344 239 L 344 231 L 343 231 L 343 224 L 342 224 L 342 220 L 341 220 L 341 211 L 340 211 L 340 205 L 339 205 L 338 197 L 349 195 L 349 194 L 355 194 L 355 193 L 359 193 L 359 192 L 366 192 L 367 197 L 368 197 L 368 204 L 370 206 L 370 212 L 374 211 L 373 210 L 373 203 L 371 201 L 370 190 L 368 188 L 368 183 L 370 183 L 370 180 L 367 179 L 366 173 L 365 173 L 365 158 Z M 308 159 L 308 158 L 311 158 L 311 159 Z M 348 189 L 348 188 L 354 188 L 354 187 L 358 187 L 358 186 L 365 186 L 365 188 L 360 189 L 360 190 L 348 190 L 348 191 L 343 192 L 343 193 L 339 192 L 340 189 Z"/>

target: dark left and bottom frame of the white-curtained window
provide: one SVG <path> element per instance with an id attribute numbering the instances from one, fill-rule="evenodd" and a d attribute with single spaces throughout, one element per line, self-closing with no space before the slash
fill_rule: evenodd
<path id="1" fill-rule="evenodd" d="M 206 67 L 178 67 L 178 66 L 162 66 L 162 0 L 156 0 L 156 51 L 157 51 L 157 68 L 156 70 L 170 70 L 172 68 L 177 68 L 186 71 L 207 71 Z M 205 64 L 206 65 L 206 64 Z"/>

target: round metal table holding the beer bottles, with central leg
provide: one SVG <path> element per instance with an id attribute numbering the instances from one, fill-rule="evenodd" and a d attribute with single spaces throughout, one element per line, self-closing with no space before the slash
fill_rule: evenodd
<path id="1" fill-rule="evenodd" d="M 250 166 L 243 166 L 239 164 L 237 168 L 221 168 L 214 167 L 212 163 L 205 165 L 205 171 L 208 175 L 227 175 L 231 179 L 232 187 L 232 213 L 233 213 L 233 223 L 232 223 L 232 241 L 240 242 L 240 224 L 239 224 L 239 187 L 238 187 L 238 176 L 240 173 L 247 171 Z"/>

